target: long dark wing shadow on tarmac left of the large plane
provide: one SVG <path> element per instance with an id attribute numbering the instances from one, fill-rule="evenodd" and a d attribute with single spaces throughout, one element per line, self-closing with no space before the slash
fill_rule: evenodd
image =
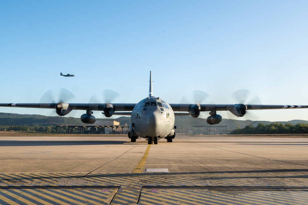
<path id="1" fill-rule="evenodd" d="M 20 140 L 0 140 L 0 147 L 18 146 L 68 146 L 68 145 L 103 145 L 103 144 L 124 144 L 129 141 L 20 141 Z"/>

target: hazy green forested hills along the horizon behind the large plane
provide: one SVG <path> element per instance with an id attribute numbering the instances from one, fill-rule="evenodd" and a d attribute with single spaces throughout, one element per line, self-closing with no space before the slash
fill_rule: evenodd
<path id="1" fill-rule="evenodd" d="M 121 125 L 130 124 L 130 117 L 119 117 L 116 119 L 99 119 L 97 120 L 115 120 L 120 122 Z M 223 119 L 218 126 L 225 125 L 227 130 L 235 130 L 238 128 L 245 128 L 249 124 L 257 126 L 259 123 L 270 124 L 270 121 L 251 121 L 251 120 L 229 120 Z M 288 122 L 278 123 L 308 123 L 306 120 L 291 120 Z M 44 116 L 44 115 L 22 115 L 14 113 L 3 113 L 0 112 L 0 125 L 27 125 L 27 126 L 48 126 L 56 124 L 83 124 L 80 118 L 62 117 L 62 116 Z M 206 119 L 203 118 L 192 118 L 191 116 L 176 116 L 175 125 L 177 128 L 188 128 L 196 126 L 209 126 L 206 124 Z M 215 126 L 215 125 L 214 125 Z M 200 127 L 202 128 L 202 127 Z"/>

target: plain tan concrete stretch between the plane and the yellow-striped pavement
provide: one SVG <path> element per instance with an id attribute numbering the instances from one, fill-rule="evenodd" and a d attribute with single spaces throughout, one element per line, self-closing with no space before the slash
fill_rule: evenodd
<path id="1" fill-rule="evenodd" d="M 0 137 L 0 173 L 132 173 L 148 148 L 112 137 Z M 152 144 L 141 172 L 271 171 L 308 168 L 308 138 L 253 138 L 177 135 Z M 104 165 L 103 165 L 104 164 Z M 103 165 L 103 166 L 102 166 Z"/>

